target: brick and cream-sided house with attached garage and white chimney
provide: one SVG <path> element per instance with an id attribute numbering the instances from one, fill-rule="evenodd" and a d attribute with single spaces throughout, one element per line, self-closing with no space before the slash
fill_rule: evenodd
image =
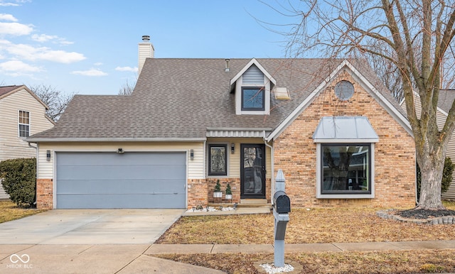
<path id="1" fill-rule="evenodd" d="M 139 70 L 28 138 L 38 208 L 270 203 L 279 169 L 292 207 L 415 204 L 410 124 L 363 61 L 154 58 L 144 37 Z"/>

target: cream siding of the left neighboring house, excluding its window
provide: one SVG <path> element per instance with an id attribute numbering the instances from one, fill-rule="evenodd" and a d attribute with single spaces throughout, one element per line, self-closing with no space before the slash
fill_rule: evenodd
<path id="1" fill-rule="evenodd" d="M 0 161 L 15 158 L 36 157 L 36 149 L 18 137 L 18 111 L 30 113 L 30 134 L 53 127 L 45 117 L 45 107 L 26 89 L 21 89 L 0 99 Z M 0 185 L 1 186 L 1 185 Z M 0 199 L 9 198 L 0 187 Z"/>

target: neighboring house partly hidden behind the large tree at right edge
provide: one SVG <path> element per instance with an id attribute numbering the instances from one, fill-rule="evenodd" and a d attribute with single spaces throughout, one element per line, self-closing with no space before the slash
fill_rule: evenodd
<path id="1" fill-rule="evenodd" d="M 438 107 L 436 110 L 436 121 L 438 128 L 443 128 L 446 123 L 447 116 L 451 109 L 452 103 L 455 100 L 455 90 L 454 89 L 440 89 L 438 97 Z M 417 111 L 417 115 L 420 116 L 422 111 L 422 106 L 420 105 L 419 94 L 414 92 L 414 104 Z M 400 102 L 400 105 L 403 109 L 406 109 L 405 100 L 403 99 Z M 455 139 L 451 138 L 446 150 L 446 157 L 449 157 L 452 162 L 455 162 Z M 452 182 L 450 184 L 449 190 L 447 192 L 441 193 L 442 199 L 455 199 L 455 171 L 452 174 Z"/>

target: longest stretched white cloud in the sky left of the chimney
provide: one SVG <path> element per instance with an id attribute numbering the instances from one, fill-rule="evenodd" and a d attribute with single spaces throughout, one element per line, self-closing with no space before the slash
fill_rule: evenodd
<path id="1" fill-rule="evenodd" d="M 0 41 L 1 43 L 2 41 Z M 9 43 L 6 51 L 16 57 L 25 60 L 46 60 L 50 62 L 60 62 L 64 64 L 70 64 L 72 62 L 79 62 L 85 60 L 85 56 L 82 53 L 67 52 L 64 50 L 51 50 L 50 48 L 41 47 L 34 48 L 31 45 Z"/>

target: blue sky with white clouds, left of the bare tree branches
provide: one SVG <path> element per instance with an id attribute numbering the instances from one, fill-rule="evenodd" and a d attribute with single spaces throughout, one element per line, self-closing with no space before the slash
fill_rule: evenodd
<path id="1" fill-rule="evenodd" d="M 118 94 L 137 80 L 142 35 L 157 58 L 284 57 L 285 37 L 257 20 L 289 23 L 269 6 L 285 2 L 0 0 L 0 85 Z"/>

